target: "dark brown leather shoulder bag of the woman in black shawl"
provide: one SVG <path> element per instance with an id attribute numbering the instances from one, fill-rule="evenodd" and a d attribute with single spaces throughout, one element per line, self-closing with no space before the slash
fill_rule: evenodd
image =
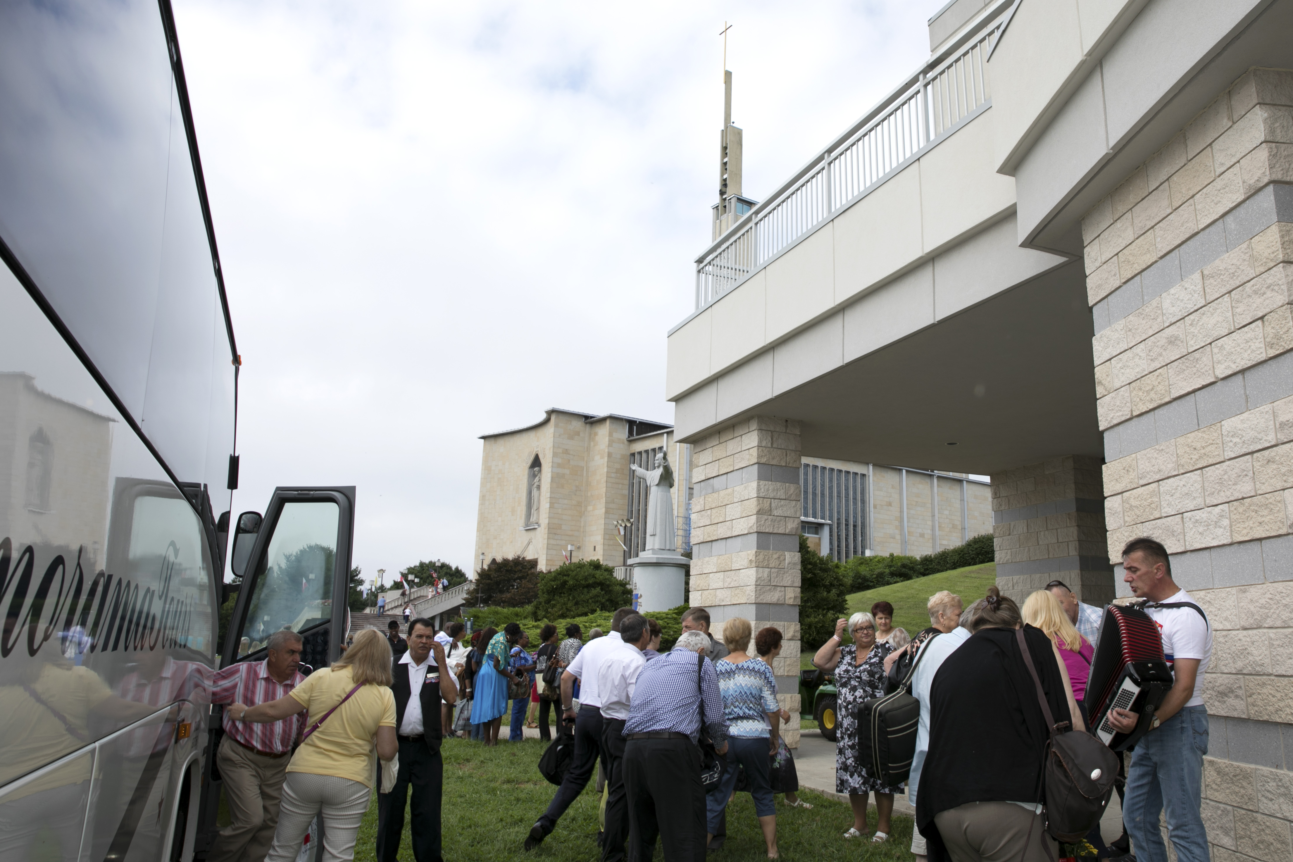
<path id="1" fill-rule="evenodd" d="M 1046 788 L 1046 831 L 1059 841 L 1074 843 L 1100 822 L 1104 808 L 1113 794 L 1113 781 L 1118 774 L 1118 757 L 1108 746 L 1089 733 L 1065 729 L 1069 722 L 1055 724 L 1050 704 L 1042 693 L 1042 681 L 1028 653 L 1024 631 L 1016 629 L 1019 650 L 1024 664 L 1033 676 L 1037 702 L 1046 717 L 1050 741 L 1046 743 L 1046 761 L 1042 766 L 1042 784 Z"/>

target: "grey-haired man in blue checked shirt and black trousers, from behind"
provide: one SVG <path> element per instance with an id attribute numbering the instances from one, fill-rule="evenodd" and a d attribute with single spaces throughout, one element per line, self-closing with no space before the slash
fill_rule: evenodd
<path id="1" fill-rule="evenodd" d="M 628 858 L 650 862 L 656 839 L 665 859 L 705 858 L 705 790 L 701 786 L 700 704 L 719 755 L 727 753 L 723 694 L 703 632 L 683 632 L 667 655 L 637 675 L 625 724 Z M 701 658 L 697 657 L 700 654 Z"/>

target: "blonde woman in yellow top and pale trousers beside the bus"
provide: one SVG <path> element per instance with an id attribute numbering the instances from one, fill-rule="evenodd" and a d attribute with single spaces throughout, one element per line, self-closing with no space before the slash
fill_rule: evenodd
<path id="1" fill-rule="evenodd" d="M 310 821 L 321 808 L 323 859 L 353 859 L 376 774 L 374 741 L 381 760 L 390 760 L 400 751 L 387 638 L 376 629 L 365 629 L 332 667 L 314 671 L 287 695 L 255 707 L 235 703 L 229 710 L 234 721 L 255 722 L 282 721 L 303 710 L 310 712 L 308 735 L 287 765 L 278 830 L 265 862 L 296 859 Z M 323 722 L 315 726 L 314 716 L 325 719 Z"/>

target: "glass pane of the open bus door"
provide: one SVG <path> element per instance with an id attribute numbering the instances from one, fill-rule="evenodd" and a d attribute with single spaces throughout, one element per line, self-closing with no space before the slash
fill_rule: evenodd
<path id="1" fill-rule="evenodd" d="M 283 504 L 253 576 L 239 659 L 264 649 L 281 628 L 304 635 L 331 622 L 339 520 L 330 500 Z"/>

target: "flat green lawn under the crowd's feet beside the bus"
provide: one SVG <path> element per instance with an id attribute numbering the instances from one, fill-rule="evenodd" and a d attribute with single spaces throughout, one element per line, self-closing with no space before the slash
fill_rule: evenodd
<path id="1" fill-rule="evenodd" d="M 535 862 L 588 862 L 599 857 L 597 797 L 592 782 L 566 810 L 556 831 L 531 853 L 521 849 L 530 826 L 547 808 L 556 787 L 539 775 L 538 761 L 544 743 L 537 739 L 500 742 L 497 748 L 463 739 L 447 739 L 445 756 L 443 856 L 446 859 L 534 859 Z M 831 859 L 912 859 L 912 821 L 893 817 L 893 832 L 884 844 L 846 841 L 844 831 L 853 815 L 846 803 L 803 791 L 812 810 L 785 808 L 777 797 L 777 840 L 785 859 L 830 862 Z M 871 812 L 871 831 L 875 813 Z M 374 796 L 359 828 L 354 858 L 375 858 L 378 803 Z M 411 859 L 409 821 L 401 859 Z M 656 858 L 659 859 L 657 845 Z M 756 862 L 764 859 L 763 836 L 749 794 L 737 794 L 728 806 L 728 840 L 715 862 Z"/>

